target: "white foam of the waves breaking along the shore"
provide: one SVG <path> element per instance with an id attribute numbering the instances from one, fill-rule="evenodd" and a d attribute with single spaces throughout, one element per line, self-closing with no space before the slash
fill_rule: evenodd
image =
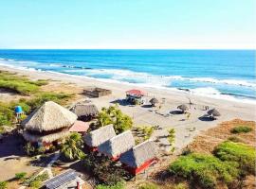
<path id="1" fill-rule="evenodd" d="M 35 68 L 28 68 L 27 63 L 22 64 L 23 66 L 17 66 L 17 64 L 10 64 L 8 63 L 8 60 L 0 60 L 0 65 L 9 66 L 13 68 L 23 69 L 23 70 L 30 70 L 30 71 L 41 71 Z M 62 64 L 59 63 L 52 63 L 50 66 L 61 66 Z M 120 69 L 79 69 L 79 68 L 71 68 L 71 67 L 65 67 L 66 70 L 64 72 L 66 74 L 72 74 L 69 76 L 72 77 L 86 77 L 89 79 L 95 79 L 100 80 L 103 82 L 111 82 L 111 83 L 123 83 L 127 85 L 136 85 L 141 87 L 151 87 L 161 90 L 173 90 L 177 91 L 174 87 L 172 88 L 172 81 L 174 80 L 188 80 L 192 82 L 208 82 L 208 83 L 216 83 L 216 84 L 226 84 L 226 85 L 235 85 L 235 86 L 246 86 L 246 87 L 255 87 L 256 83 L 248 82 L 245 80 L 232 80 L 232 79 L 215 79 L 210 77 L 181 77 L 181 76 L 157 76 L 157 75 L 150 75 L 148 73 L 142 73 L 142 72 L 133 72 L 129 70 L 120 70 Z M 45 72 L 45 71 L 44 71 Z M 46 71 L 51 73 L 59 73 L 57 71 Z M 65 74 L 64 74 L 65 75 Z M 82 76 L 76 76 L 76 75 L 82 75 Z M 96 77 L 97 75 L 97 77 Z M 99 78 L 108 75 L 109 78 Z M 135 83 L 131 83 L 132 81 L 135 81 Z M 250 99 L 238 99 L 232 95 L 229 94 L 221 94 L 217 89 L 212 87 L 206 87 L 206 88 L 195 88 L 190 89 L 190 94 L 195 95 L 203 95 L 203 96 L 209 96 L 212 98 L 219 98 L 219 99 L 227 99 L 232 101 L 242 101 L 247 103 L 255 103 L 255 100 Z"/>

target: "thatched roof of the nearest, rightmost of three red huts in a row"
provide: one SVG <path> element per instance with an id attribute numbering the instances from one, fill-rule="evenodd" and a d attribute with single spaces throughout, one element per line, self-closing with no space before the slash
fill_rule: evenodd
<path id="1" fill-rule="evenodd" d="M 154 141 L 145 141 L 120 156 L 120 163 L 130 167 L 138 167 L 141 164 L 156 157 L 157 150 Z"/>

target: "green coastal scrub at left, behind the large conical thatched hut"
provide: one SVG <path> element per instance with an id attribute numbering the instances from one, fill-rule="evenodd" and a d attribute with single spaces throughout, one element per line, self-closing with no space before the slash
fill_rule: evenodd
<path id="1" fill-rule="evenodd" d="M 51 100 L 65 105 L 66 101 L 72 97 L 72 94 L 42 91 L 41 86 L 47 84 L 48 80 L 45 79 L 32 81 L 27 77 L 0 71 L 0 89 L 24 96 L 18 101 L 0 102 L 0 126 L 11 126 L 13 124 L 15 121 L 15 106 L 21 106 L 23 111 L 29 114 L 46 101 Z"/>

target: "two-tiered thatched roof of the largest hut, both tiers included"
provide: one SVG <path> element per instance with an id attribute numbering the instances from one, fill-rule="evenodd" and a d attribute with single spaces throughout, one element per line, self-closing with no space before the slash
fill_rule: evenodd
<path id="1" fill-rule="evenodd" d="M 69 134 L 77 115 L 55 102 L 48 101 L 22 122 L 23 136 L 30 142 L 50 143 Z"/>

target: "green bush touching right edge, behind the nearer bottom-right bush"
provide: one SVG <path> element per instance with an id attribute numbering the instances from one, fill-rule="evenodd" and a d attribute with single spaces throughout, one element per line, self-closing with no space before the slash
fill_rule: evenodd
<path id="1" fill-rule="evenodd" d="M 237 163 L 240 169 L 255 174 L 256 150 L 254 147 L 227 141 L 217 146 L 213 153 L 220 160 Z"/>

